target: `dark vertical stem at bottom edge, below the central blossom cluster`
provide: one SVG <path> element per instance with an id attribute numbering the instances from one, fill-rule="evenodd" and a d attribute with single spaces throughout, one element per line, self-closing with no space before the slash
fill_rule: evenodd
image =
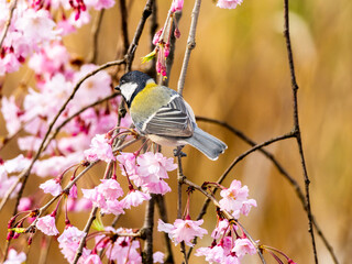
<path id="1" fill-rule="evenodd" d="M 153 263 L 153 228 L 154 228 L 154 204 L 155 195 L 152 195 L 152 199 L 148 200 L 145 209 L 145 219 L 143 224 L 143 232 L 145 234 L 144 254 L 145 260 L 143 263 Z"/>

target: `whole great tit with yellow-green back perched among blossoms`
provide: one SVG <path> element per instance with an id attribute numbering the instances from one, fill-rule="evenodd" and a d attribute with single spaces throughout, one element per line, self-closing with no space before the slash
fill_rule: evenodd
<path id="1" fill-rule="evenodd" d="M 228 146 L 197 127 L 194 111 L 175 90 L 133 70 L 120 78 L 121 91 L 135 129 L 161 145 L 193 145 L 215 161 Z"/>

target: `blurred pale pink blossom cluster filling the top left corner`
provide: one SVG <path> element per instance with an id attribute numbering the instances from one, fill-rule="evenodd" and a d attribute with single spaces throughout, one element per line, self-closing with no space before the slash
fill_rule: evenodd
<path id="1" fill-rule="evenodd" d="M 10 19 L 11 4 L 10 1 L 0 1 L 0 32 Z M 101 10 L 113 6 L 114 0 L 19 0 L 1 46 L 0 76 L 16 72 L 29 56 L 35 56 L 53 41 L 61 41 L 64 35 L 88 23 L 90 9 Z M 61 15 L 54 18 L 53 13 L 57 12 Z"/>

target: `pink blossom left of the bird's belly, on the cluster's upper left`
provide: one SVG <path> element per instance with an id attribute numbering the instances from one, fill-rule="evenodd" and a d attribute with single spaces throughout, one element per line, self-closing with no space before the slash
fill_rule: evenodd
<path id="1" fill-rule="evenodd" d="M 109 140 L 105 134 L 96 134 L 91 140 L 90 148 L 85 151 L 88 162 L 102 160 L 105 162 L 116 161 Z"/>

